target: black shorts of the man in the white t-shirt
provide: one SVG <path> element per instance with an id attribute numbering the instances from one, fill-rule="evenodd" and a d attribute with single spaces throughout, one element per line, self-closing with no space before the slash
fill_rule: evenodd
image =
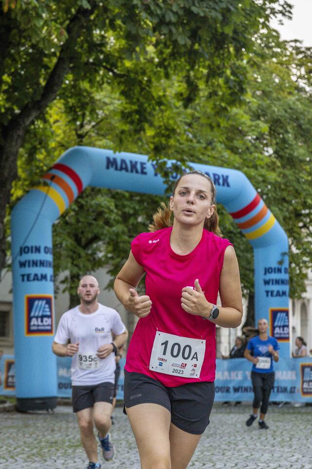
<path id="1" fill-rule="evenodd" d="M 93 407 L 95 402 L 108 402 L 113 404 L 113 383 L 99 383 L 94 386 L 72 386 L 73 411 Z"/>

